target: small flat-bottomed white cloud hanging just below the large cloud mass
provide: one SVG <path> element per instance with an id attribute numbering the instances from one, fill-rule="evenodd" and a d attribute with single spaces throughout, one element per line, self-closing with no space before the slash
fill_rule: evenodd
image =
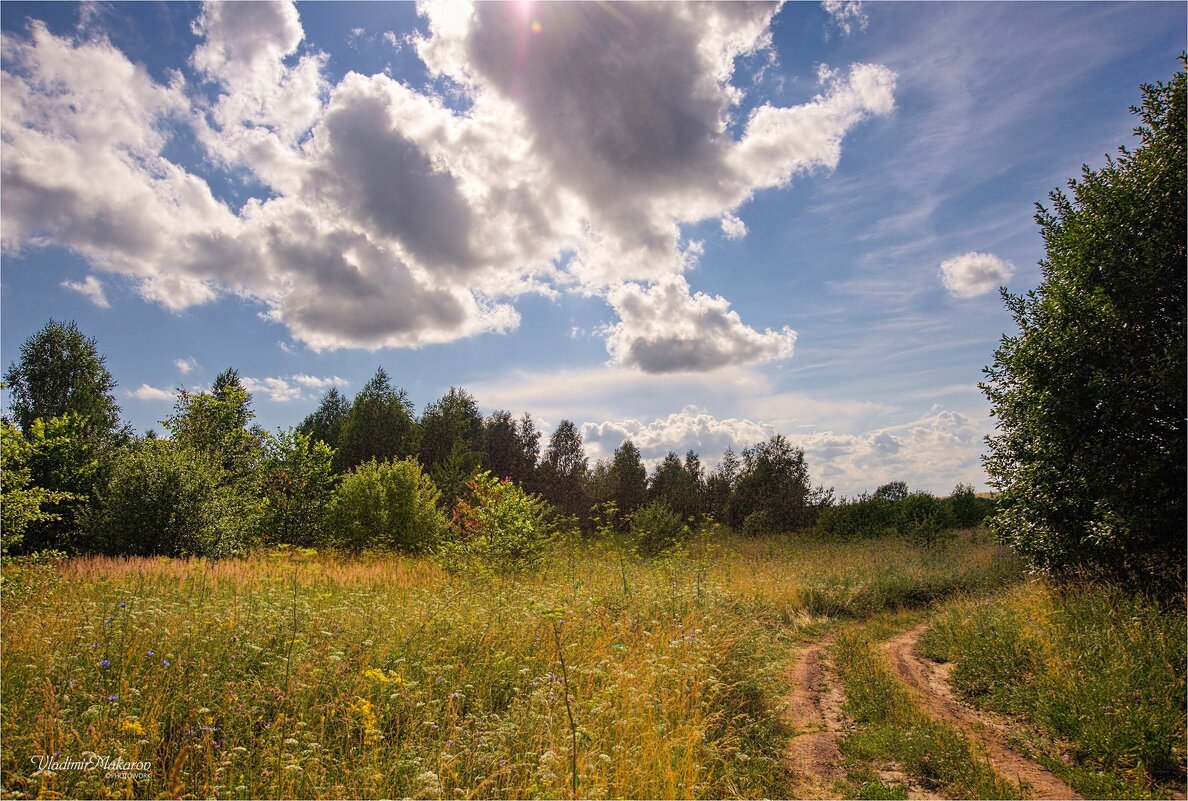
<path id="1" fill-rule="evenodd" d="M 690 294 L 682 276 L 651 288 L 623 284 L 607 299 L 619 315 L 607 333 L 611 358 L 649 373 L 786 359 L 796 345 L 796 332 L 788 326 L 760 334 L 729 309 L 726 298 Z"/>

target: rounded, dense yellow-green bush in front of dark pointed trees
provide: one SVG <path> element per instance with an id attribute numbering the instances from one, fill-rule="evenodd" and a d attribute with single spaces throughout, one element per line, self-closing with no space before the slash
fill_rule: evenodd
<path id="1" fill-rule="evenodd" d="M 415 459 L 364 462 L 342 479 L 327 512 L 329 541 L 347 550 L 432 550 L 446 529 L 441 493 Z"/>

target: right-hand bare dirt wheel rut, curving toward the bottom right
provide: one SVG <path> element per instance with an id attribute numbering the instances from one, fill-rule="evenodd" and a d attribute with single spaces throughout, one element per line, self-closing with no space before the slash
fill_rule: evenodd
<path id="1" fill-rule="evenodd" d="M 934 718 L 952 724 L 977 740 L 1001 776 L 1026 783 L 1036 799 L 1080 799 L 1072 787 L 1051 771 L 1006 746 L 1010 726 L 997 715 L 978 712 L 961 704 L 949 688 L 946 666 L 916 656 L 916 641 L 925 624 L 903 632 L 883 644 L 896 674 L 916 690 Z"/>

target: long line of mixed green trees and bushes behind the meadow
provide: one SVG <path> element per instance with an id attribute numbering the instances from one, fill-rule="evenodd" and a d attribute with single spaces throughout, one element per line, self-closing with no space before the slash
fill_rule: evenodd
<path id="1" fill-rule="evenodd" d="M 630 439 L 590 466 L 573 421 L 542 443 L 530 414 L 484 416 L 460 387 L 417 416 L 383 367 L 353 398 L 331 387 L 298 425 L 277 433 L 253 422 L 252 396 L 228 368 L 209 390 L 179 389 L 162 421 L 165 436 L 143 437 L 120 423 L 115 380 L 74 322 L 51 320 L 31 336 L 5 380 L 6 551 L 223 556 L 276 543 L 423 550 L 451 525 L 473 532 L 467 516 L 498 503 L 531 507 L 529 523 L 542 536 L 564 521 L 587 535 L 601 526 L 671 542 L 708 521 L 754 535 L 798 531 L 853 505 L 813 486 L 804 452 L 782 435 L 741 454 L 727 449 L 712 471 L 694 450 L 669 453 L 649 471 Z M 927 493 L 903 494 L 904 506 L 923 510 L 918 519 L 896 529 L 887 518 L 872 532 L 979 522 L 948 515 Z M 959 486 L 953 497 L 966 496 L 972 488 Z M 836 524 L 839 515 L 826 515 L 826 531 L 866 536 Z"/>

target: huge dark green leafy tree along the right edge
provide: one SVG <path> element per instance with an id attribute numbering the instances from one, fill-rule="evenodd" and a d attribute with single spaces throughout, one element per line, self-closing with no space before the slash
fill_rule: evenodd
<path id="1" fill-rule="evenodd" d="M 992 529 L 1036 568 L 1182 591 L 1184 71 L 1142 92 L 1138 147 L 1037 206 L 1043 279 L 1003 290 L 1019 332 L 985 370 L 985 466 Z"/>

